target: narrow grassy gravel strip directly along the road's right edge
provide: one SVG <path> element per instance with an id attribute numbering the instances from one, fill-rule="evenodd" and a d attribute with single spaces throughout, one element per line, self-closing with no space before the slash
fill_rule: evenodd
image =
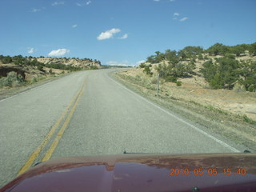
<path id="1" fill-rule="evenodd" d="M 157 103 L 159 106 L 173 111 L 175 114 L 191 122 L 195 122 L 203 130 L 208 133 L 210 132 L 215 137 L 223 138 L 225 141 L 233 142 L 239 148 L 254 152 L 253 149 L 256 147 L 256 127 L 254 124 L 245 122 L 241 117 L 223 113 L 222 110 L 206 108 L 197 102 L 167 97 L 163 93 L 160 93 L 157 97 L 156 89 L 142 86 L 142 84 L 139 84 L 133 78 L 124 75 L 120 71 L 111 73 L 110 76 L 135 93 Z"/>

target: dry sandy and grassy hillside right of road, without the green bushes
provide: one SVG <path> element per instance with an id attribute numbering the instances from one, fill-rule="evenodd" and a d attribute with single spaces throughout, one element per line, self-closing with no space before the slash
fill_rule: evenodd
<path id="1" fill-rule="evenodd" d="M 124 70 L 114 76 L 138 94 L 206 127 L 213 134 L 255 150 L 256 92 L 247 91 L 238 81 L 230 83 L 231 89 L 213 89 L 202 74 L 203 63 L 222 57 L 202 53 L 201 59 L 198 59 L 198 56 L 193 58 L 195 66 L 190 75 L 176 77 L 173 82 L 173 78 L 169 78 L 169 81 L 168 78 L 161 77 L 158 96 L 158 69 L 166 62 L 168 65 L 166 59 L 155 63 L 145 62 L 142 67 Z M 250 63 L 256 61 L 256 57 L 249 54 L 241 54 L 234 59 Z M 190 62 L 190 59 L 185 62 Z"/>

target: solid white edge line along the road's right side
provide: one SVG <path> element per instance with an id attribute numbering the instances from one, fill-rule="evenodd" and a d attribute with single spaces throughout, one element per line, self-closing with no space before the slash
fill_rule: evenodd
<path id="1" fill-rule="evenodd" d="M 108 78 L 110 78 L 110 77 L 108 76 Z M 110 80 L 113 81 L 113 82 L 115 82 L 116 84 L 118 84 L 118 86 L 122 86 L 120 83 L 114 81 L 113 78 L 110 78 Z M 214 138 L 214 136 L 212 136 L 212 135 L 210 135 L 210 134 L 207 134 L 205 131 L 200 130 L 198 127 L 193 126 L 193 125 L 190 124 L 189 122 L 184 121 L 182 118 L 178 118 L 176 115 L 170 114 L 169 111 L 162 109 L 160 106 L 155 105 L 153 102 L 150 102 L 150 101 L 147 100 L 146 98 L 143 98 L 141 95 L 134 93 L 134 91 L 127 89 L 125 86 L 122 86 L 122 88 L 128 90 L 130 93 L 132 93 L 132 94 L 134 94 L 134 95 L 137 95 L 138 97 L 142 98 L 144 101 L 150 103 L 152 106 L 158 108 L 159 110 L 162 110 L 162 111 L 165 112 L 166 114 L 169 114 L 170 116 L 172 116 L 172 117 L 174 117 L 174 118 L 177 118 L 180 122 L 185 123 L 187 126 L 192 127 L 194 130 L 197 130 L 197 131 L 200 132 L 201 134 L 206 135 L 206 137 L 213 139 L 215 142 L 218 142 L 218 143 L 221 144 L 222 146 L 226 146 L 227 148 L 229 148 L 230 150 L 232 150 L 232 151 L 234 151 L 234 152 L 236 152 L 236 153 L 241 153 L 240 150 L 235 149 L 234 147 L 228 145 L 226 142 L 222 142 L 222 141 L 219 140 L 218 138 Z"/>

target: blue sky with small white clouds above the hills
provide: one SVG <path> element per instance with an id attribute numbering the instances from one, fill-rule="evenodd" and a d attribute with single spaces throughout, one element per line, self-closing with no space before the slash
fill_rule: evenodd
<path id="1" fill-rule="evenodd" d="M 1 0 L 0 54 L 130 65 L 155 51 L 256 42 L 255 0 Z"/>

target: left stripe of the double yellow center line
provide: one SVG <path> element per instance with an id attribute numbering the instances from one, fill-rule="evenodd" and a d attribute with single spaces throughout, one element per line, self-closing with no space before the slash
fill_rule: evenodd
<path id="1" fill-rule="evenodd" d="M 85 82 L 82 84 L 82 90 L 85 85 Z M 38 157 L 38 155 L 41 153 L 42 149 L 46 146 L 46 143 L 50 140 L 50 138 L 53 136 L 54 132 L 57 130 L 59 124 L 62 122 L 63 118 L 65 118 L 66 113 L 74 103 L 75 99 L 78 98 L 78 95 L 81 93 L 81 89 L 78 91 L 77 94 L 74 95 L 72 98 L 70 104 L 66 107 L 60 118 L 58 118 L 57 122 L 55 122 L 54 126 L 50 129 L 49 133 L 46 135 L 46 137 L 43 139 L 43 141 L 40 143 L 38 148 L 34 150 L 33 154 L 30 155 L 30 158 L 26 161 L 24 166 L 22 166 L 22 169 L 18 171 L 18 175 L 23 174 L 26 170 L 32 166 L 34 160 Z"/>

